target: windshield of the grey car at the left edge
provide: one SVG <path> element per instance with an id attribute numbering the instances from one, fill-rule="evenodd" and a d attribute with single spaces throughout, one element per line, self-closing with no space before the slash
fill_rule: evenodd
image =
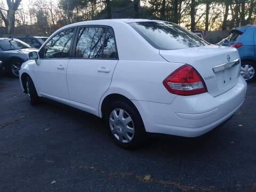
<path id="1" fill-rule="evenodd" d="M 30 46 L 19 39 L 4 39 L 0 41 L 0 47 L 3 51 L 26 49 Z"/>

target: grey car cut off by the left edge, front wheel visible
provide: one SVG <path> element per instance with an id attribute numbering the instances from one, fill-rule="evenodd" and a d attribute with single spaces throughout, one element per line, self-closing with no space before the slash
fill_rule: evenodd
<path id="1" fill-rule="evenodd" d="M 19 69 L 28 60 L 28 53 L 37 51 L 28 44 L 15 38 L 0 38 L 0 60 L 2 70 L 12 77 L 19 78 Z"/>

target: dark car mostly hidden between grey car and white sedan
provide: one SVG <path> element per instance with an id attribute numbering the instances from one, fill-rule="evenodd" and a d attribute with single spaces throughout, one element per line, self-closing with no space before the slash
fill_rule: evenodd
<path id="1" fill-rule="evenodd" d="M 9 38 L 17 38 L 30 45 L 31 47 L 39 49 L 48 37 L 41 36 L 10 36 Z"/>

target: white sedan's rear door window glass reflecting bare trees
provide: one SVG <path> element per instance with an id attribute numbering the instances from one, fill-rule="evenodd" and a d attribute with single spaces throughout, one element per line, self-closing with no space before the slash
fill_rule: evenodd
<path id="1" fill-rule="evenodd" d="M 82 27 L 79 29 L 76 58 L 116 59 L 116 45 L 114 31 L 105 27 Z"/>

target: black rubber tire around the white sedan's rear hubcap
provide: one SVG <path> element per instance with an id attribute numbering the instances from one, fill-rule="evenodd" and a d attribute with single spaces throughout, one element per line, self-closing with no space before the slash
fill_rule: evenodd
<path id="1" fill-rule="evenodd" d="M 117 126 L 116 126 L 116 134 L 114 134 L 111 131 L 111 129 L 113 129 L 113 125 L 110 125 L 110 115 L 111 115 L 111 113 L 114 109 L 124 110 L 124 114 L 127 113 L 127 115 L 130 116 L 131 119 L 132 119 L 132 122 L 130 122 L 130 123 L 133 123 L 134 134 L 133 134 L 133 137 L 132 137 L 131 141 L 129 141 L 129 142 L 126 142 L 126 143 L 124 142 L 125 137 L 123 137 L 124 140 L 122 139 L 123 142 L 121 142 L 117 139 L 117 134 L 118 134 Z M 109 133 L 111 135 L 111 138 L 115 141 L 115 143 L 118 146 L 120 146 L 122 148 L 125 148 L 125 149 L 138 148 L 146 140 L 146 131 L 145 131 L 145 127 L 143 125 L 141 116 L 139 114 L 139 111 L 131 103 L 129 103 L 127 101 L 114 101 L 113 103 L 111 103 L 110 106 L 107 108 L 107 111 L 105 113 L 105 122 L 107 124 L 107 127 L 108 127 Z M 112 128 L 110 126 L 112 126 Z M 125 125 L 122 124 L 122 126 L 125 129 Z M 128 133 L 128 134 L 130 134 L 130 133 Z"/>

